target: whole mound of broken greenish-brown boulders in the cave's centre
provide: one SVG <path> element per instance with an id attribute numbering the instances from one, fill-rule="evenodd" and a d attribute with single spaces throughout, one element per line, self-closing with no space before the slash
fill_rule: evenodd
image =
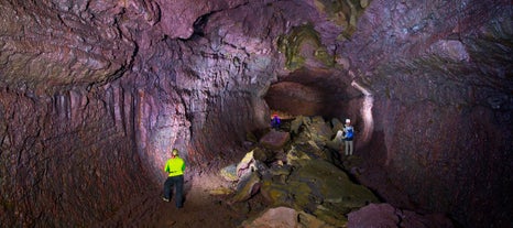
<path id="1" fill-rule="evenodd" d="M 359 158 L 339 155 L 339 145 L 332 140 L 339 123 L 337 119 L 326 122 L 321 117 L 297 117 L 264 134 L 239 163 L 221 170 L 236 186 L 227 191 L 234 192 L 229 202 L 233 207 L 256 195 L 264 199 L 266 209 L 245 220 L 243 227 L 365 227 L 369 222 L 359 220 L 385 214 L 372 210 L 372 205 L 381 205 L 379 197 L 354 181 Z M 401 225 L 394 211 L 402 210 L 383 205 L 392 208 L 389 214 L 395 218 L 388 224 L 412 227 Z M 424 224 L 426 219 L 410 217 L 414 219 L 410 224 Z M 450 225 L 443 216 L 440 220 Z"/>

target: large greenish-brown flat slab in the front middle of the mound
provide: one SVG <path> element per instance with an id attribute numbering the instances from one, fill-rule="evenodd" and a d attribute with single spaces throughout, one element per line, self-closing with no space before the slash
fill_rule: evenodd
<path id="1" fill-rule="evenodd" d="M 261 193 L 271 205 L 287 205 L 340 226 L 345 214 L 379 202 L 376 196 L 362 185 L 354 184 L 349 176 L 321 159 L 303 159 L 285 183 L 263 180 Z"/>

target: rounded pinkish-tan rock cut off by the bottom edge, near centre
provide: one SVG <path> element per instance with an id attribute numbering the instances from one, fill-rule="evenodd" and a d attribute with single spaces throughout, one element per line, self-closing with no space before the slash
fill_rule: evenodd
<path id="1" fill-rule="evenodd" d="M 332 228 L 323 220 L 306 213 L 298 213 L 288 207 L 269 208 L 259 217 L 249 219 L 242 222 L 244 228 L 277 228 L 277 227 L 294 227 L 294 228 Z"/>

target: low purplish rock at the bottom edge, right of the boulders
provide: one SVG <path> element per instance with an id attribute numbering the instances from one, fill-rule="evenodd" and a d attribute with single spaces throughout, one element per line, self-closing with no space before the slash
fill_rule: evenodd
<path id="1" fill-rule="evenodd" d="M 370 204 L 348 215 L 348 228 L 451 228 L 449 218 L 439 215 L 418 215 L 400 210 L 390 204 Z"/>

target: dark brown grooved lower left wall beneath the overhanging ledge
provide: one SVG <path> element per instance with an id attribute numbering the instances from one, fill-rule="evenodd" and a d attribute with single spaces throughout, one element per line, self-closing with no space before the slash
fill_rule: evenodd
<path id="1" fill-rule="evenodd" d="M 2 89 L 0 211 L 6 226 L 91 226 L 148 192 L 134 100 L 106 85 L 45 99 Z"/>

